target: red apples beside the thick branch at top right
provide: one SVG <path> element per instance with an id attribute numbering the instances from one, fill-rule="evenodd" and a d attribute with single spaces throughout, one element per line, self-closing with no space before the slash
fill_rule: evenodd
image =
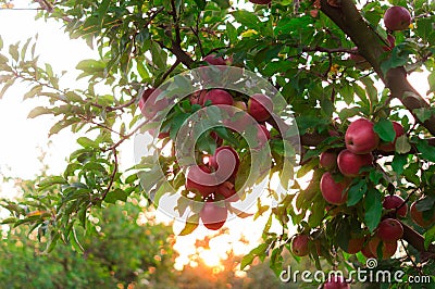
<path id="1" fill-rule="evenodd" d="M 387 46 L 383 46 L 384 51 L 390 51 L 395 47 L 396 38 L 393 36 L 393 32 L 405 30 L 411 24 L 411 14 L 403 7 L 390 7 L 385 11 L 384 25 L 387 28 Z M 349 59 L 355 61 L 356 65 L 360 70 L 369 70 L 370 63 L 358 53 L 358 47 L 352 48 L 355 53 L 349 55 Z"/>

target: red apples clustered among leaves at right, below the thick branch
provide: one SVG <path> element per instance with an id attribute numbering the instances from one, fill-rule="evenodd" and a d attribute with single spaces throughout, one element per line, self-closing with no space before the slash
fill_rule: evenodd
<path id="1" fill-rule="evenodd" d="M 325 151 L 320 155 L 320 166 L 326 172 L 320 180 L 322 197 L 331 205 L 343 205 L 347 202 L 347 190 L 351 178 L 364 174 L 364 166 L 372 165 L 372 152 L 391 152 L 398 137 L 405 135 L 403 127 L 393 122 L 396 138 L 391 142 L 383 142 L 373 129 L 374 124 L 366 118 L 352 122 L 345 134 L 346 149 L 341 151 Z M 361 252 L 365 257 L 388 259 L 397 250 L 397 242 L 403 236 L 403 227 L 398 218 L 406 218 L 408 204 L 400 196 L 388 194 L 383 200 L 383 208 L 387 212 L 373 234 L 368 230 L 349 239 L 344 249 L 349 254 Z M 327 206 L 326 210 L 331 210 Z M 411 219 L 419 226 L 427 228 L 435 223 L 435 213 L 431 217 L 423 217 L 418 210 L 418 201 L 410 206 Z M 318 255 L 322 255 L 321 242 L 309 234 L 299 234 L 291 239 L 291 251 L 297 256 L 310 253 L 310 242 L 315 246 Z"/>

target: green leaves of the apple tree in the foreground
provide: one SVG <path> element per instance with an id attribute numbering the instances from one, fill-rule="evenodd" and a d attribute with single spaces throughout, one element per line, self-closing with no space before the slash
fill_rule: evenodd
<path id="1" fill-rule="evenodd" d="M 389 213 L 382 206 L 386 194 L 399 193 L 409 204 L 422 199 L 419 208 L 426 215 L 435 210 L 434 3 L 390 0 L 356 1 L 356 4 L 358 9 L 350 0 L 283 0 L 271 5 L 254 5 L 251 11 L 233 8 L 226 0 L 102 0 L 98 3 L 69 0 L 45 8 L 40 16 L 62 21 L 72 38 L 82 37 L 89 45 L 94 41 L 97 45 L 101 59 L 77 64 L 77 70 L 83 72 L 79 77 L 89 81 L 88 88 L 60 87 L 61 76 L 49 64 L 38 63 L 29 40 L 12 45 L 8 55 L 4 51 L 0 54 L 0 96 L 14 81 L 32 84 L 24 98 L 45 97 L 50 105 L 35 108 L 29 117 L 59 116 L 51 135 L 70 127 L 73 133 L 95 131 L 97 136 L 76 139 L 82 149 L 71 154 L 63 175 L 40 179 L 38 191 L 27 194 L 21 203 L 4 202 L 3 206 L 11 212 L 11 218 L 4 223 L 32 224 L 39 237 L 48 238 L 48 251 L 58 240 L 80 247 L 76 231 L 95 228 L 90 221 L 95 212 L 140 193 L 136 171 L 120 172 L 117 165 L 120 146 L 141 127 L 142 116 L 136 109 L 140 89 L 159 87 L 173 75 L 206 65 L 202 58 L 216 53 L 231 56 L 233 65 L 258 73 L 279 90 L 291 108 L 300 134 L 302 154 L 298 155 L 300 165 L 296 176 L 301 178 L 314 171 L 308 189 L 301 189 L 295 181 L 285 198 L 272 193 L 278 203 L 276 206 L 270 208 L 259 199 L 257 216 L 270 214 L 264 243 L 241 263 L 246 266 L 256 256 L 264 260 L 270 255 L 272 269 L 279 273 L 283 252 L 291 250 L 288 230 L 291 221 L 298 225 L 298 233 L 310 234 L 312 241 L 321 241 L 328 266 L 348 268 L 345 261 L 350 256 L 339 248 L 346 249 L 351 235 L 370 235 L 375 230 L 381 218 Z M 381 20 L 391 4 L 406 7 L 411 12 L 410 29 L 385 30 Z M 396 39 L 391 49 L 384 49 L 388 46 L 387 34 L 394 34 Z M 365 65 L 348 56 L 356 53 L 355 47 L 365 59 Z M 424 97 L 406 79 L 408 73 L 422 71 L 428 73 L 430 91 Z M 111 92 L 99 91 L 100 85 L 109 87 Z M 241 93 L 234 97 L 248 99 Z M 165 120 L 170 138 L 175 139 L 181 124 L 197 110 L 188 100 L 177 103 Z M 394 152 L 374 152 L 375 166 L 352 179 L 347 204 L 330 208 L 319 188 L 323 171 L 319 168 L 318 155 L 345 147 L 344 135 L 353 116 L 376 123 L 375 133 L 383 141 L 395 136 L 391 121 L 399 122 L 407 134 L 397 139 Z M 274 126 L 270 141 L 271 172 L 279 172 L 281 136 L 276 124 L 268 123 Z M 335 134 L 331 136 L 331 131 Z M 220 136 L 224 143 L 239 144 L 235 146 L 236 150 L 246 156 L 241 158 L 240 167 L 250 167 L 249 154 L 238 142 L 240 136 L 228 129 Z M 166 144 L 170 139 L 162 142 Z M 212 139 L 203 139 L 201 149 L 212 154 Z M 164 176 L 175 190 L 181 190 L 185 177 L 174 155 L 162 154 L 159 161 Z M 158 183 L 152 171 L 148 173 L 145 196 L 156 190 L 165 192 L 166 188 Z M 188 206 L 190 203 L 183 203 L 178 210 L 184 213 Z M 190 209 L 198 212 L 198 208 Z M 273 219 L 282 225 L 281 235 L 270 230 Z M 414 229 L 403 237 L 408 242 L 406 251 L 400 254 L 400 262 L 383 262 L 419 272 L 414 260 L 433 266 L 434 227 L 420 228 L 410 218 L 402 223 Z M 185 233 L 195 227 L 187 225 Z M 357 263 L 363 264 L 364 257 L 357 255 Z M 313 246 L 310 257 L 320 266 L 319 252 Z M 407 263 L 410 261 L 412 267 Z"/>

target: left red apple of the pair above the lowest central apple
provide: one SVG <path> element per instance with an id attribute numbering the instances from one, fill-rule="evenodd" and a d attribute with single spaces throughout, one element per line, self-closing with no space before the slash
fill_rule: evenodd
<path id="1" fill-rule="evenodd" d="M 207 198 L 216 190 L 215 177 L 207 165 L 194 165 L 186 176 L 186 190 L 198 191 Z"/>

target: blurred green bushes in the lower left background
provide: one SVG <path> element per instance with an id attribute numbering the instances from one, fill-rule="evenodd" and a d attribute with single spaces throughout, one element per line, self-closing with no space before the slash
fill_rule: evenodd
<path id="1" fill-rule="evenodd" d="M 77 231 L 83 252 L 67 246 L 44 252 L 46 238 L 22 225 L 1 241 L 0 286 L 29 288 L 110 288 L 140 284 L 156 286 L 172 280 L 174 241 L 170 228 L 154 224 L 150 212 L 134 199 L 110 205 L 92 215 L 96 225 Z M 77 244 L 75 244 L 77 246 Z"/>

